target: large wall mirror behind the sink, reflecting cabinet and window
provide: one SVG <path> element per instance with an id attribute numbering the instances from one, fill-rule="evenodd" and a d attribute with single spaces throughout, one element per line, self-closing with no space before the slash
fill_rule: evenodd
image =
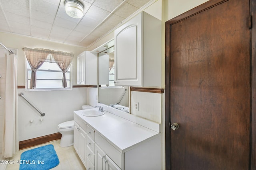
<path id="1" fill-rule="evenodd" d="M 129 87 L 115 86 L 114 47 L 99 53 L 99 102 L 129 112 Z"/>

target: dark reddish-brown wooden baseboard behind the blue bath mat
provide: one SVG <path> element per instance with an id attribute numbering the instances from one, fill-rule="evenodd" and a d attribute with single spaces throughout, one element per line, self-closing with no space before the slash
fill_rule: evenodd
<path id="1" fill-rule="evenodd" d="M 54 133 L 54 134 L 45 135 L 42 137 L 28 139 L 25 141 L 20 141 L 19 142 L 19 150 L 34 147 L 36 145 L 40 145 L 40 144 L 47 143 L 50 141 L 58 140 L 58 139 L 61 139 L 61 136 L 62 135 L 60 133 Z"/>

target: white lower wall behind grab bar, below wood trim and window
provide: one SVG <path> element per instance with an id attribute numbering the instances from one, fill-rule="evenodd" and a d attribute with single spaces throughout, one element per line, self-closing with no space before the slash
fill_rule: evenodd
<path id="1" fill-rule="evenodd" d="M 73 90 L 26 92 L 18 89 L 18 93 L 32 102 L 45 116 L 40 116 L 32 106 L 18 96 L 19 141 L 41 137 L 58 132 L 58 124 L 73 120 L 73 111 L 81 110 L 87 104 L 87 88 Z M 40 121 L 40 119 L 43 121 Z M 30 120 L 33 122 L 30 123 Z"/>

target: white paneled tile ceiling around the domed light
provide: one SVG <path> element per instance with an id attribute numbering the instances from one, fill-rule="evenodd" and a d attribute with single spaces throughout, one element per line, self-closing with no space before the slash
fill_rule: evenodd
<path id="1" fill-rule="evenodd" d="M 84 16 L 71 18 L 65 0 L 0 0 L 0 32 L 89 47 L 152 0 L 79 0 Z"/>

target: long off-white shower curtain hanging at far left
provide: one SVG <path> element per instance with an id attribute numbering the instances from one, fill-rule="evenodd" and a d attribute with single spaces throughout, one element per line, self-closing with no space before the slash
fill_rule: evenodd
<path id="1" fill-rule="evenodd" d="M 18 142 L 18 102 L 17 102 L 17 57 L 15 54 L 6 56 L 6 91 L 5 115 L 2 154 L 5 158 L 12 157 L 19 149 Z"/>

